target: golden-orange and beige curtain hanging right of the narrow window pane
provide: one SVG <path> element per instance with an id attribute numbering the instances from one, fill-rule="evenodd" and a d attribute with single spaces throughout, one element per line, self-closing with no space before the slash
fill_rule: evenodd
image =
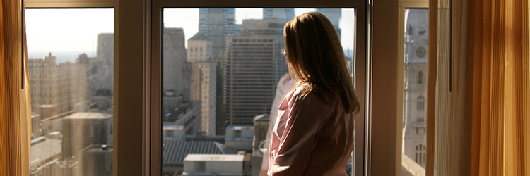
<path id="1" fill-rule="evenodd" d="M 529 1 L 431 0 L 430 21 L 426 174 L 528 175 Z"/>

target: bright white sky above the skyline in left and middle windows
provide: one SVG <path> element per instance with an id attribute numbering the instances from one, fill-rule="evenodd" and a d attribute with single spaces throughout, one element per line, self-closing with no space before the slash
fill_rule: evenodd
<path id="1" fill-rule="evenodd" d="M 295 8 L 301 15 L 314 8 Z M 261 8 L 236 8 L 236 24 L 243 19 L 261 19 Z M 343 9 L 339 27 L 344 49 L 353 48 L 353 9 Z M 42 58 L 48 52 L 58 62 L 74 61 L 82 52 L 95 56 L 98 34 L 114 32 L 114 9 L 26 9 L 26 34 L 29 58 Z M 199 32 L 198 8 L 167 8 L 165 27 L 182 27 L 186 40 Z M 64 55 L 64 56 L 63 56 Z"/>

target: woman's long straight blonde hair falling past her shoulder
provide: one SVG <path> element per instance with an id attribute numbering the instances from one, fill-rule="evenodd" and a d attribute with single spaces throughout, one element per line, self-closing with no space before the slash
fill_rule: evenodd
<path id="1" fill-rule="evenodd" d="M 341 97 L 346 113 L 357 113 L 359 100 L 341 41 L 329 19 L 319 12 L 303 13 L 285 23 L 283 35 L 289 73 L 309 87 L 300 97 L 312 91 L 335 93 Z"/>

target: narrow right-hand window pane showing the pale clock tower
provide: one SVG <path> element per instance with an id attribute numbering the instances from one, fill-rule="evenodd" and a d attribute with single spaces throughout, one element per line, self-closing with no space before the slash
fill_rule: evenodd
<path id="1" fill-rule="evenodd" d="M 425 175 L 429 10 L 405 10 L 401 175 Z"/>

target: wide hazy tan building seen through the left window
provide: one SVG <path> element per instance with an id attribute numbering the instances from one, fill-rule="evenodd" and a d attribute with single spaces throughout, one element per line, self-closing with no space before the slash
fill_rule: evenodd
<path id="1" fill-rule="evenodd" d="M 28 59 L 31 108 L 57 106 L 54 114 L 36 112 L 41 119 L 72 111 L 75 103 L 90 100 L 87 73 L 91 68 L 91 59 L 86 54 L 80 54 L 77 63 L 57 64 L 52 53 L 44 58 Z"/>

